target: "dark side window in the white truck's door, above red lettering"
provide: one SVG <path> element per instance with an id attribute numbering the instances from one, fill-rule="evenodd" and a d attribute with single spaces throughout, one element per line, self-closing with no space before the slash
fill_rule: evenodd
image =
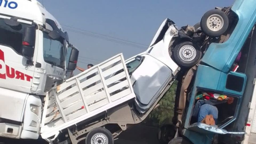
<path id="1" fill-rule="evenodd" d="M 18 26 L 9 26 L 5 24 L 4 19 L 0 19 L 0 45 L 10 47 L 22 55 L 23 30 L 27 26 L 31 25 L 20 23 Z"/>

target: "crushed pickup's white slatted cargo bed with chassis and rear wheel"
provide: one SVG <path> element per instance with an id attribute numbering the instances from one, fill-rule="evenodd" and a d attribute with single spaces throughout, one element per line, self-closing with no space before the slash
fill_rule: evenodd
<path id="1" fill-rule="evenodd" d="M 94 77 L 86 79 L 92 74 Z M 142 122 L 172 83 L 173 80 L 165 86 L 146 113 L 138 113 L 123 55 L 118 54 L 47 93 L 41 136 L 50 143 L 75 144 L 85 139 L 94 139 L 94 143 L 106 142 L 105 139 L 110 142 L 111 137 L 117 137 L 128 124 Z M 88 88 L 90 85 L 93 86 Z M 60 135 L 66 137 L 62 139 Z M 91 138 L 93 136 L 95 138 Z"/>

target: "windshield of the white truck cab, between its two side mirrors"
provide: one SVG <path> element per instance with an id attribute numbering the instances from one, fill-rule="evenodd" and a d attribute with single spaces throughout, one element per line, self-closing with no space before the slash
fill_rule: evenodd
<path id="1" fill-rule="evenodd" d="M 53 40 L 43 32 L 43 58 L 51 65 L 64 68 L 64 39 Z"/>

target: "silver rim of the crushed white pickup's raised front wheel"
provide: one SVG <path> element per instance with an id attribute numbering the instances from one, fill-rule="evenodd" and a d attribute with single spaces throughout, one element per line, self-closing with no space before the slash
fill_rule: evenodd
<path id="1" fill-rule="evenodd" d="M 179 57 L 183 61 L 187 61 L 187 62 L 192 61 L 193 59 L 195 59 L 196 55 L 197 55 L 197 51 L 191 45 L 185 45 L 181 47 L 181 49 L 179 50 Z"/>

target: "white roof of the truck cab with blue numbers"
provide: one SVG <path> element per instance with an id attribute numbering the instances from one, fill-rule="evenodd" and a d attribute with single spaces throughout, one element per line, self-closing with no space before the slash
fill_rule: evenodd
<path id="1" fill-rule="evenodd" d="M 12 0 L 8 1 L 7 4 L 6 1 L 2 1 L 0 15 L 42 23 L 43 25 L 45 25 L 46 19 L 51 19 L 61 29 L 59 22 L 37 0 Z"/>

